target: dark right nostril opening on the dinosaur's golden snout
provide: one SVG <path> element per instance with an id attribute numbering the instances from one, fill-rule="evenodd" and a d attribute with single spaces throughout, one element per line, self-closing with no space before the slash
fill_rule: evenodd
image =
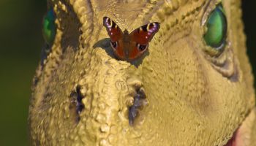
<path id="1" fill-rule="evenodd" d="M 137 93 L 134 97 L 132 106 L 129 107 L 129 125 L 133 126 L 135 120 L 139 117 L 140 111 L 143 110 L 143 107 L 146 107 L 148 101 L 146 100 L 145 92 L 140 88 L 137 90 Z"/>

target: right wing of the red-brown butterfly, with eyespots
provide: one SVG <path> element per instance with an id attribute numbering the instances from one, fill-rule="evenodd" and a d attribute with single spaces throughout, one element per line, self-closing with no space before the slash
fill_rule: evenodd
<path id="1" fill-rule="evenodd" d="M 132 31 L 129 36 L 131 37 L 129 60 L 134 60 L 142 55 L 148 49 L 148 42 L 154 37 L 154 34 L 160 28 L 160 24 L 157 22 L 148 23 L 140 28 Z"/>

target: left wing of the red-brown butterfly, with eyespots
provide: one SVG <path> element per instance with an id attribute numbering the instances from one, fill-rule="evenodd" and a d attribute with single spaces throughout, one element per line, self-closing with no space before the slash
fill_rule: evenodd
<path id="1" fill-rule="evenodd" d="M 108 36 L 110 37 L 110 45 L 113 48 L 113 52 L 115 53 L 117 58 L 124 59 L 124 45 L 122 42 L 123 32 L 121 28 L 117 26 L 117 24 L 108 17 L 103 18 L 103 26 L 108 31 Z"/>

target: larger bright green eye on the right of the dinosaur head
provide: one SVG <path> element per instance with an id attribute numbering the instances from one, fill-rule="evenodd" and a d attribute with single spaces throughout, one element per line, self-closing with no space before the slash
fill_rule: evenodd
<path id="1" fill-rule="evenodd" d="M 227 20 L 221 4 L 211 12 L 206 26 L 207 31 L 204 34 L 206 45 L 215 47 L 216 50 L 221 49 L 227 36 Z"/>

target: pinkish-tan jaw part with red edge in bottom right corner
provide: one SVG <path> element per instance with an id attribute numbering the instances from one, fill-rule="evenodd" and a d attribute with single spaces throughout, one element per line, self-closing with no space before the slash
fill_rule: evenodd
<path id="1" fill-rule="evenodd" d="M 256 109 L 253 109 L 246 117 L 244 122 L 234 132 L 233 137 L 227 142 L 225 146 L 246 146 L 252 145 L 252 131 L 255 126 L 255 113 Z"/>

